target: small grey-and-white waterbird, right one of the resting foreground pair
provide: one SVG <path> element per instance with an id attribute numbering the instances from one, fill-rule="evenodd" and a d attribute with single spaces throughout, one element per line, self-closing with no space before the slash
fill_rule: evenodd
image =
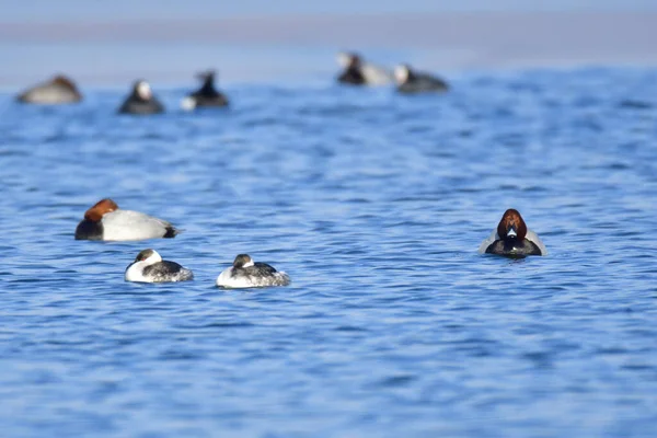
<path id="1" fill-rule="evenodd" d="M 217 277 L 217 286 L 226 289 L 288 286 L 290 276 L 266 263 L 253 262 L 249 254 L 239 254 L 231 267 Z"/>

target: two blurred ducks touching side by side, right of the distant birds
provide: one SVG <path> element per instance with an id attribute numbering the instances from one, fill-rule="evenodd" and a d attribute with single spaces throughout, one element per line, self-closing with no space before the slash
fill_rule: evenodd
<path id="1" fill-rule="evenodd" d="M 393 72 L 388 69 L 365 61 L 360 55 L 355 53 L 341 53 L 337 62 L 344 71 L 337 77 L 337 81 L 351 85 L 385 85 L 396 83 L 400 93 L 427 93 L 445 92 L 449 85 L 440 78 L 413 70 L 403 64 L 394 68 Z"/>

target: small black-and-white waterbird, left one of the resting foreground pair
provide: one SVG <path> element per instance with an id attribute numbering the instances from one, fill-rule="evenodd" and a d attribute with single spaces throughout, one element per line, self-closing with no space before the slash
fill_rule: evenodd
<path id="1" fill-rule="evenodd" d="M 125 273 L 126 281 L 171 283 L 194 279 L 194 273 L 175 262 L 163 261 L 155 250 L 143 250 L 137 254 Z"/>

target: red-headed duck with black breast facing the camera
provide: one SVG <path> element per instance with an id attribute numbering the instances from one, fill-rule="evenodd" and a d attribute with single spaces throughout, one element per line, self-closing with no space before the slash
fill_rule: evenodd
<path id="1" fill-rule="evenodd" d="M 502 216 L 497 229 L 482 243 L 479 253 L 525 257 L 548 255 L 548 250 L 537 233 L 527 228 L 520 212 L 509 208 Z"/>

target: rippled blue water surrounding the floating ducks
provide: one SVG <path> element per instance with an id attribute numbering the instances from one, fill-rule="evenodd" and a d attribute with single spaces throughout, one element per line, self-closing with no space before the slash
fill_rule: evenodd
<path id="1" fill-rule="evenodd" d="M 2 94 L 2 436 L 654 436 L 657 70 L 449 79 Z M 102 197 L 184 233 L 74 241 Z M 476 254 L 509 207 L 549 256 Z M 125 283 L 146 247 L 196 279 Z M 217 289 L 242 252 L 292 285 Z"/>

